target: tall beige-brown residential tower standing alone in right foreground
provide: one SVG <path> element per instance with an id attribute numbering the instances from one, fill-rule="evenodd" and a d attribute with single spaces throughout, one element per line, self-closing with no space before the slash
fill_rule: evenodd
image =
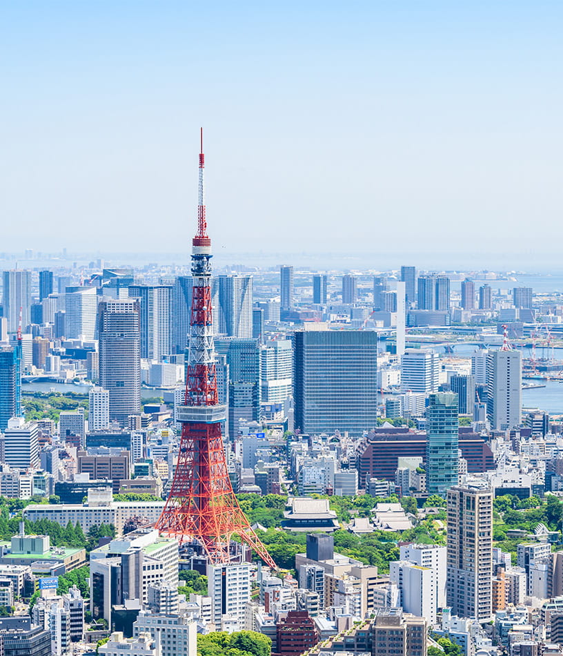
<path id="1" fill-rule="evenodd" d="M 452 615 L 491 619 L 493 492 L 456 486 L 447 494 L 446 597 Z"/>

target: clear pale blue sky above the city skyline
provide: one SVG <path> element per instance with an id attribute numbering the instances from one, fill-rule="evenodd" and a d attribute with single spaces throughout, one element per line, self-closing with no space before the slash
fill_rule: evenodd
<path id="1" fill-rule="evenodd" d="M 557 253 L 562 19 L 556 0 L 4 2 L 0 251 L 189 250 L 203 125 L 217 250 Z"/>

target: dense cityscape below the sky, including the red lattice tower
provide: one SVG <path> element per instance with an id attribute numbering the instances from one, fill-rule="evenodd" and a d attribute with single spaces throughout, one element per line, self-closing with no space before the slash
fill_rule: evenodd
<path id="1" fill-rule="evenodd" d="M 3 653 L 563 653 L 562 293 L 213 269 L 204 166 L 190 264 L 1 254 Z"/>

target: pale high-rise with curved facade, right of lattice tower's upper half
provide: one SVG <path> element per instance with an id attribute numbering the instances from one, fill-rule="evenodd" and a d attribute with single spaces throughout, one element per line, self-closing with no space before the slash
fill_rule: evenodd
<path id="1" fill-rule="evenodd" d="M 219 276 L 219 333 L 250 339 L 253 336 L 252 276 Z"/>

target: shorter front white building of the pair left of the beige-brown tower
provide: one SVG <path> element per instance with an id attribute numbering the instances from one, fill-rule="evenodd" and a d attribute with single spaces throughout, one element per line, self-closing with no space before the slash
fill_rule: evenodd
<path id="1" fill-rule="evenodd" d="M 415 563 L 393 561 L 389 563 L 389 577 L 399 588 L 402 609 L 426 618 L 428 624 L 435 624 L 437 587 L 433 570 Z"/>

